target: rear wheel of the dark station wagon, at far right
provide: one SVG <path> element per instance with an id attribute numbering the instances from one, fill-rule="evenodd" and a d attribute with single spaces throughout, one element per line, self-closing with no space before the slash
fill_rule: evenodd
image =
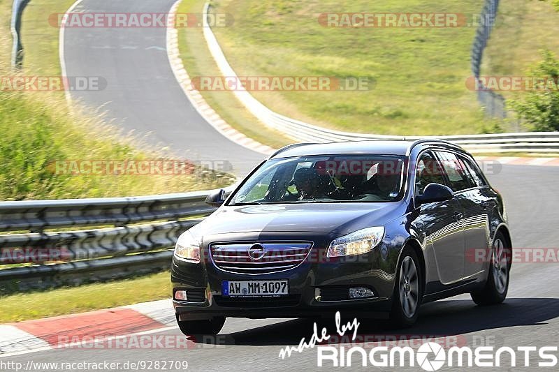
<path id="1" fill-rule="evenodd" d="M 491 262 L 485 286 L 481 290 L 470 293 L 476 304 L 496 305 L 502 303 L 507 297 L 511 268 L 511 255 L 507 254 L 507 249 L 511 247 L 508 245 L 504 235 L 498 232 L 491 248 Z"/>

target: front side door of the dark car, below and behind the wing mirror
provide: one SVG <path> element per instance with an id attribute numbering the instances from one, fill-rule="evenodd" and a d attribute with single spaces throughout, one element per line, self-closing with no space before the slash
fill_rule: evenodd
<path id="1" fill-rule="evenodd" d="M 441 163 L 433 153 L 426 152 L 420 156 L 416 165 L 415 195 L 421 195 L 423 188 L 430 183 L 447 184 L 447 180 Z M 438 281 L 445 285 L 460 281 L 464 274 L 464 237 L 460 203 L 453 198 L 444 202 L 421 204 L 419 209 L 422 230 L 428 243 L 432 244 Z M 428 278 L 428 281 L 431 279 Z"/>

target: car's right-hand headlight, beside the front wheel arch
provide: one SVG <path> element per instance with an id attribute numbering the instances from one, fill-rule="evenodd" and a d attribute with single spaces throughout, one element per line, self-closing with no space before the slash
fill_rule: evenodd
<path id="1" fill-rule="evenodd" d="M 384 237 L 384 227 L 366 228 L 334 239 L 328 247 L 328 257 L 361 255 L 372 251 Z"/>

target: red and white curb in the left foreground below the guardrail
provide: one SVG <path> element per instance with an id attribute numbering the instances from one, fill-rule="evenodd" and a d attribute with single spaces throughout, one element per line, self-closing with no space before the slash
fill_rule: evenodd
<path id="1" fill-rule="evenodd" d="M 0 358 L 68 347 L 72 346 L 72 342 L 98 342 L 175 328 L 175 313 L 170 299 L 8 323 L 0 325 Z"/>

